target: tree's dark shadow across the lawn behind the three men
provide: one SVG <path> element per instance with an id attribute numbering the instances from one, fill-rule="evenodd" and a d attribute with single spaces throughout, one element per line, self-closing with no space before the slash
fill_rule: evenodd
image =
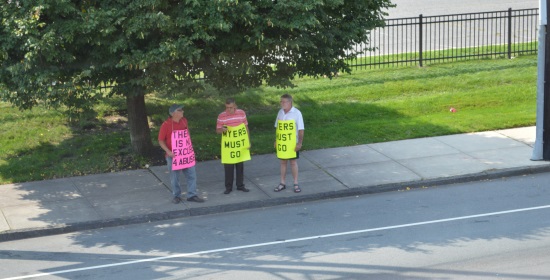
<path id="1" fill-rule="evenodd" d="M 247 93 L 246 98 L 265 100 L 262 92 Z M 252 155 L 273 152 L 275 117 L 279 110 L 278 97 L 270 103 L 245 103 L 252 140 Z M 456 133 L 448 127 L 426 122 L 412 122 L 406 116 L 373 104 L 333 102 L 320 104 L 298 95 L 296 105 L 305 121 L 304 150 L 353 146 L 400 139 Z M 268 98 L 269 100 L 269 98 Z M 174 103 L 183 103 L 180 100 Z M 243 102 L 244 103 L 244 102 Z M 223 103 L 222 103 L 223 104 Z M 256 106 L 254 106 L 256 105 Z M 258 108 L 262 106 L 261 108 Z M 222 109 L 205 110 L 188 106 L 193 145 L 199 161 L 219 158 L 220 137 L 215 133 L 216 117 Z M 151 125 L 151 137 L 156 143 L 158 127 L 167 118 L 165 104 L 150 104 L 148 111 L 157 120 Z M 152 117 L 153 118 L 153 117 Z M 16 120 L 13 120 L 16 121 Z M 71 138 L 54 145 L 41 142 L 34 148 L 19 151 L 5 158 L 0 165 L 3 182 L 24 182 L 60 177 L 83 176 L 163 165 L 162 150 L 147 162 L 136 158 L 130 148 L 126 128 L 97 131 L 75 131 Z M 61 174 L 61 175 L 60 175 Z"/>

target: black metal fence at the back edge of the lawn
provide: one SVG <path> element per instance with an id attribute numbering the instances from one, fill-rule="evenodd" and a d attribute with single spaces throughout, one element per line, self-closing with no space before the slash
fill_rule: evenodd
<path id="1" fill-rule="evenodd" d="M 372 30 L 352 68 L 419 65 L 535 54 L 538 8 L 386 20 Z"/>

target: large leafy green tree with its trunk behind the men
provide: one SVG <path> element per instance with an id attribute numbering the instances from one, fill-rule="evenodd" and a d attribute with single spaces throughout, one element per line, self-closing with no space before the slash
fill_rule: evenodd
<path id="1" fill-rule="evenodd" d="M 351 47 L 389 0 L 7 0 L 0 95 L 21 109 L 81 106 L 97 89 L 127 100 L 134 150 L 152 148 L 145 95 L 292 86 L 350 72 Z"/>

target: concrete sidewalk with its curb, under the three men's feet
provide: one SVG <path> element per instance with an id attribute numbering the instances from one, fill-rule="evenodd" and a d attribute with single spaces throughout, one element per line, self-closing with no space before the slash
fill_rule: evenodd
<path id="1" fill-rule="evenodd" d="M 166 166 L 2 185 L 0 241 L 550 171 L 550 162 L 530 160 L 534 141 L 535 127 L 524 127 L 304 151 L 301 193 L 273 191 L 274 154 L 245 163 L 248 193 L 223 194 L 220 161 L 200 162 L 205 203 L 170 203 Z"/>

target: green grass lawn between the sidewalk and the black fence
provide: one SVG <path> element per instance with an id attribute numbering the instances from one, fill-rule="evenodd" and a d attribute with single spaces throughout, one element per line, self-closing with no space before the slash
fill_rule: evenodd
<path id="1" fill-rule="evenodd" d="M 296 88 L 261 87 L 234 96 L 246 111 L 252 154 L 273 153 L 279 97 L 294 96 L 305 121 L 304 150 L 531 126 L 536 118 L 537 57 L 486 59 L 422 68 L 356 70 L 335 79 L 296 79 Z M 226 96 L 214 90 L 150 94 L 152 138 L 172 103 L 185 105 L 198 160 L 218 159 L 216 117 Z M 162 164 L 134 156 L 124 100 L 111 98 L 70 123 L 62 112 L 19 111 L 0 103 L 0 184 Z M 453 107 L 457 112 L 452 113 Z M 159 154 L 161 150 L 159 148 Z"/>

